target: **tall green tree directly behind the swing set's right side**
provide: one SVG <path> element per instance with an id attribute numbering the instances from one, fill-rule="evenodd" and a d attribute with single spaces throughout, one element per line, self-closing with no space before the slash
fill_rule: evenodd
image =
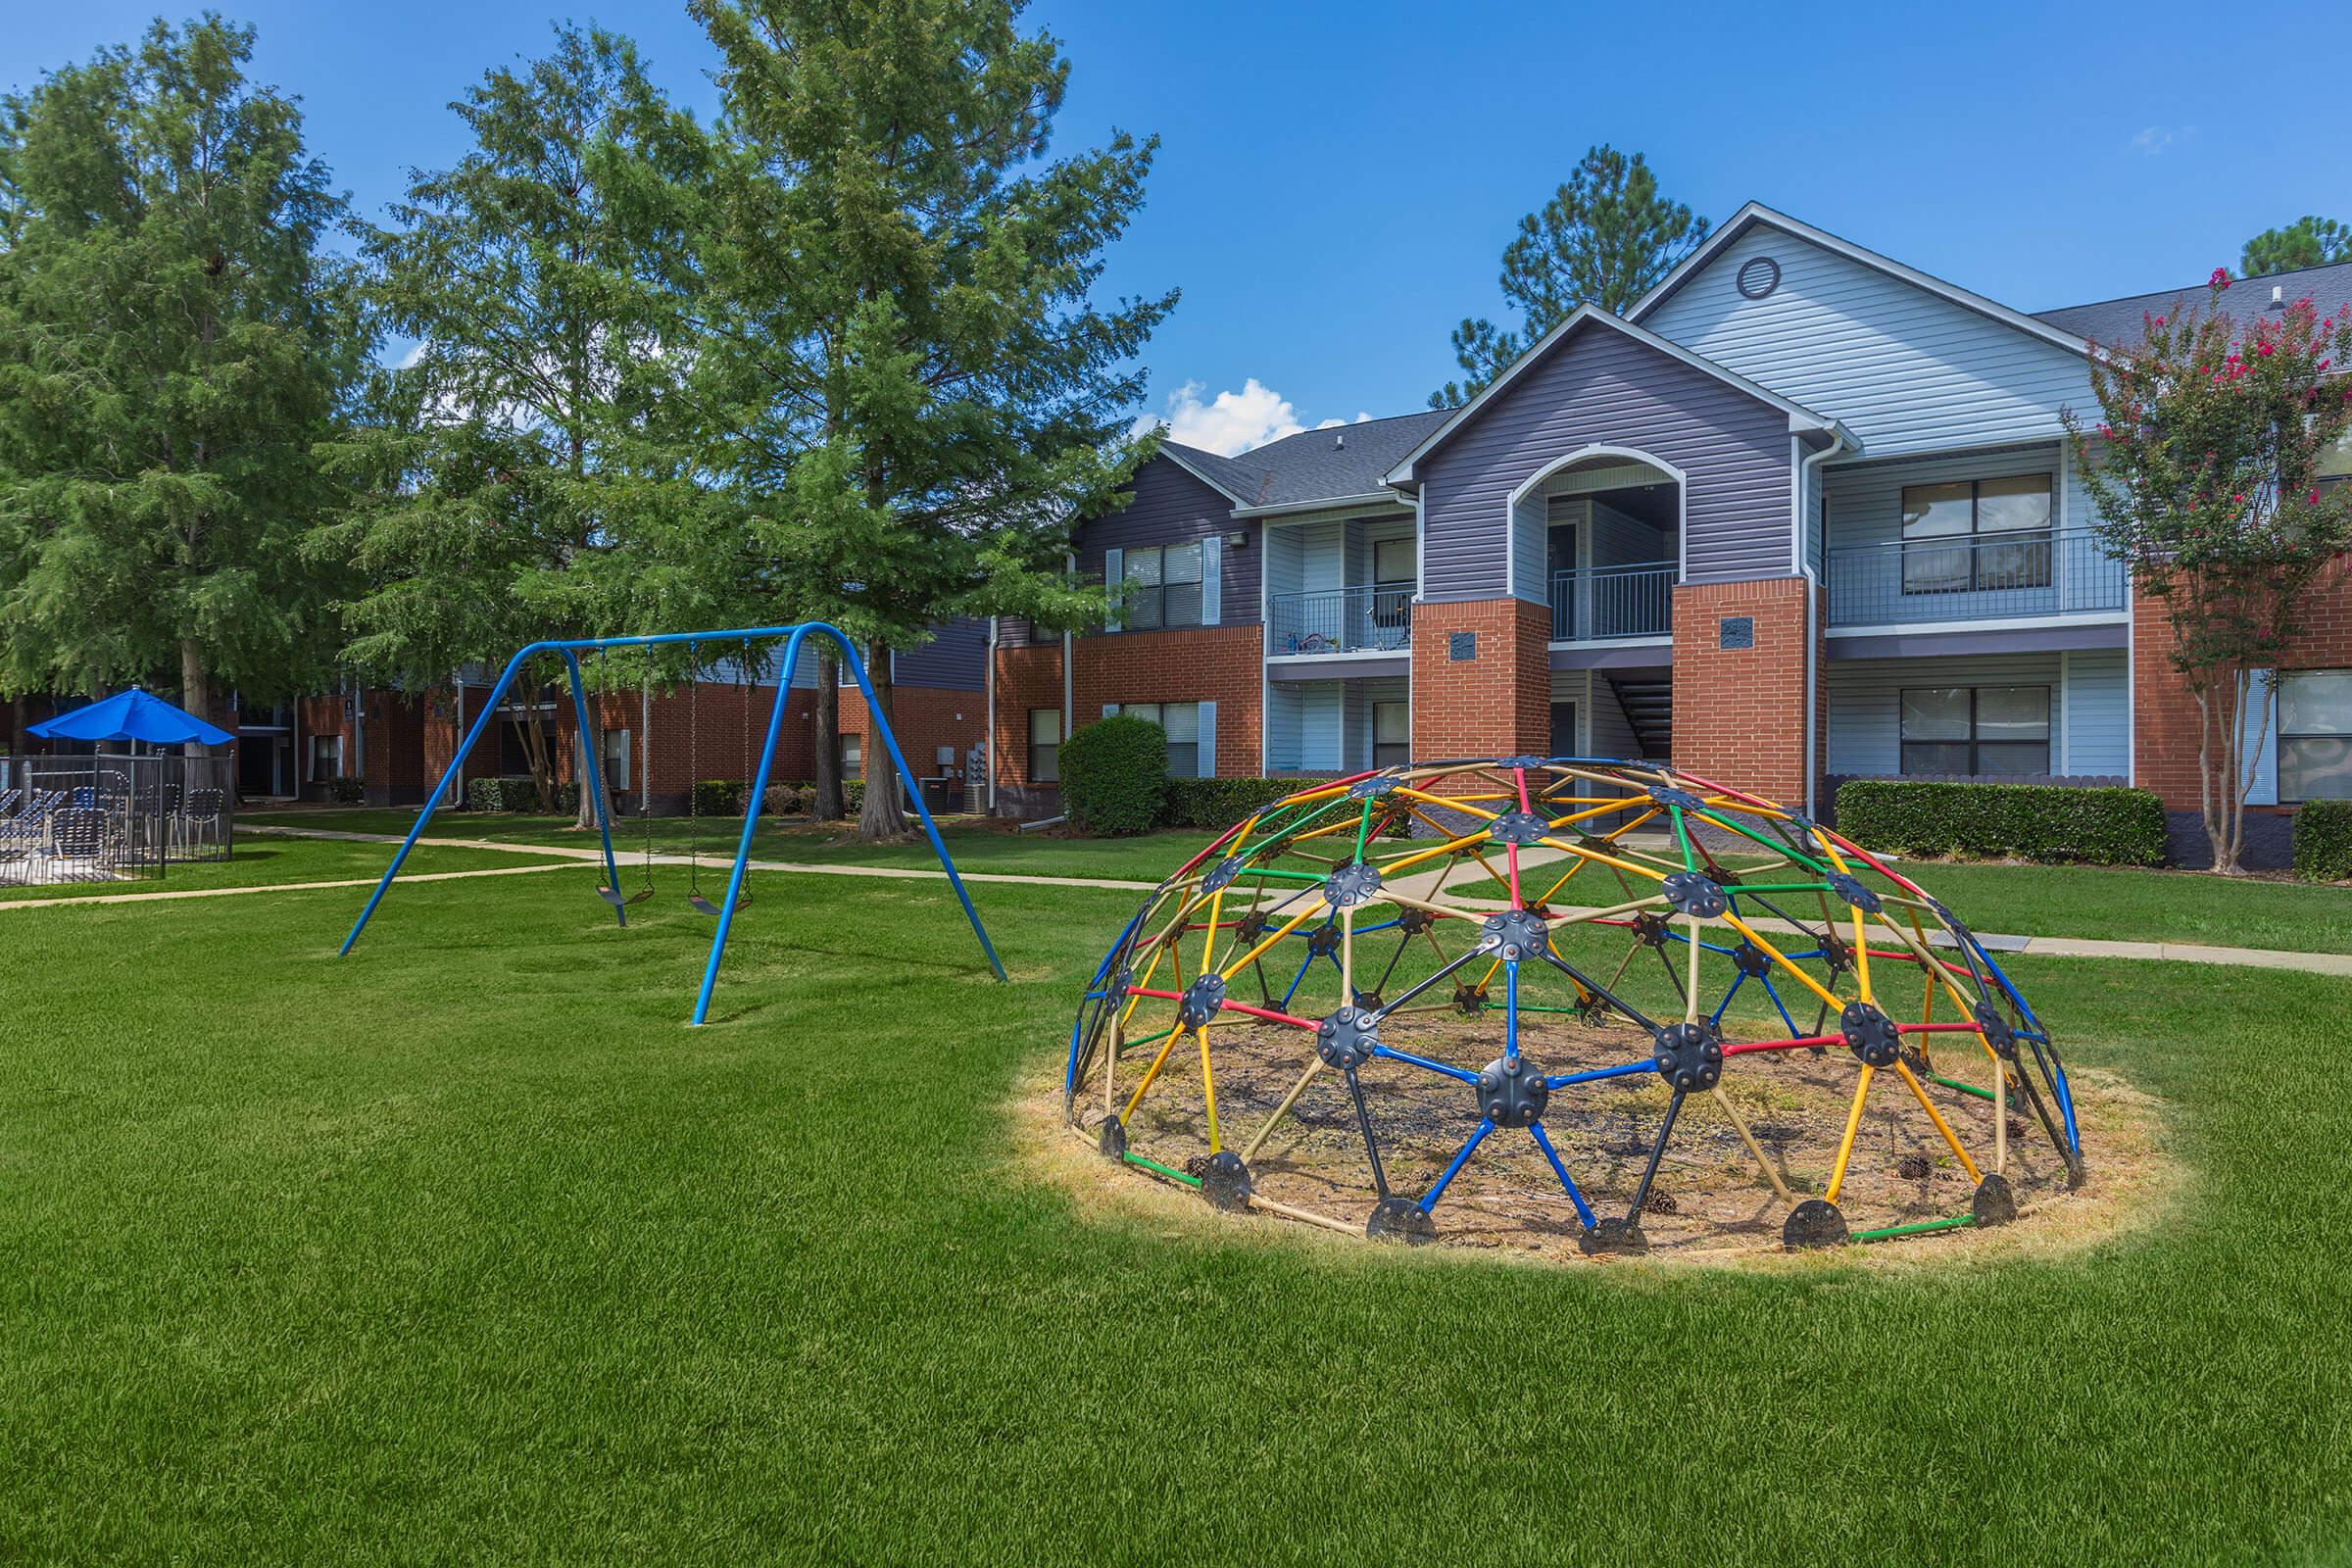
<path id="1" fill-rule="evenodd" d="M 696 395 L 774 616 L 854 635 L 884 719 L 887 651 L 938 621 L 1101 616 L 1065 574 L 1070 527 L 1117 508 L 1150 449 L 1127 433 L 1134 357 L 1176 294 L 1096 303 L 1094 284 L 1155 143 L 1049 158 L 1070 68 L 1018 12 L 694 0 L 724 94 Z M 818 729 L 823 811 L 837 736 Z M 868 778 L 880 759 L 868 736 Z M 901 830 L 896 790 L 866 790 L 858 835 Z"/>

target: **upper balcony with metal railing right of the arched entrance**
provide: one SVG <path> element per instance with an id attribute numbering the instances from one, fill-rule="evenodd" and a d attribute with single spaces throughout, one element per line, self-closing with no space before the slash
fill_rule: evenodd
<path id="1" fill-rule="evenodd" d="M 2124 609 L 2124 564 L 2093 529 L 1907 538 L 1828 552 L 1830 625 L 2011 621 Z"/>

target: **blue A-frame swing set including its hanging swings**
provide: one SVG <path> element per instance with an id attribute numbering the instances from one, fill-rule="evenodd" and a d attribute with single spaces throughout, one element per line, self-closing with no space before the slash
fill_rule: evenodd
<path id="1" fill-rule="evenodd" d="M 506 670 L 499 672 L 499 684 L 489 689 L 489 698 L 475 715 L 473 729 L 466 731 L 466 741 L 456 748 L 456 757 L 449 759 L 447 771 L 433 792 L 426 797 L 423 811 L 416 813 L 416 825 L 409 827 L 409 837 L 400 842 L 400 853 L 393 856 L 390 867 L 386 867 L 383 879 L 376 891 L 367 896 L 367 907 L 360 910 L 360 919 L 353 922 L 350 936 L 336 954 L 348 954 L 360 940 L 360 931 L 367 929 L 369 917 L 376 905 L 383 903 L 383 893 L 390 891 L 393 877 L 400 875 L 402 863 L 407 863 L 409 851 L 416 849 L 416 839 L 423 837 L 426 825 L 433 823 L 433 813 L 440 811 L 442 799 L 449 795 L 449 785 L 456 780 L 459 769 L 466 766 L 466 757 L 473 755 L 475 743 L 496 722 L 499 705 L 506 701 L 508 689 L 522 672 L 524 661 L 539 654 L 560 654 L 564 661 L 564 675 L 572 684 L 572 715 L 579 724 L 579 733 L 588 733 L 588 693 L 581 679 L 581 654 L 595 654 L 602 661 L 609 649 L 656 649 L 656 646 L 687 646 L 689 658 L 689 696 L 687 696 L 687 748 L 689 748 L 689 773 L 687 780 L 687 905 L 699 914 L 717 917 L 717 929 L 710 933 L 710 959 L 703 964 L 703 985 L 694 997 L 694 1023 L 703 1023 L 710 1016 L 710 992 L 717 990 L 720 959 L 727 957 L 727 936 L 734 926 L 736 910 L 750 903 L 750 842 L 760 825 L 760 802 L 767 795 L 767 778 L 776 764 L 776 741 L 783 736 L 783 710 L 793 693 L 793 670 L 800 663 L 800 644 L 811 635 L 830 639 L 842 656 L 842 668 L 858 682 L 858 693 L 866 698 L 866 712 L 873 719 L 875 731 L 882 736 L 882 748 L 889 752 L 891 766 L 898 778 L 906 780 L 908 802 L 915 806 L 915 816 L 922 820 L 924 835 L 931 839 L 931 851 L 938 856 L 941 870 L 948 872 L 948 884 L 955 889 L 955 898 L 964 905 L 964 919 L 971 922 L 971 933 L 981 940 L 981 952 L 988 957 L 988 969 L 995 971 L 997 980 L 1004 980 L 1004 964 L 997 961 L 997 950 L 988 940 L 988 931 L 981 926 L 981 912 L 971 907 L 971 893 L 964 891 L 964 879 L 955 872 L 955 858 L 948 856 L 948 844 L 938 837 L 938 823 L 931 820 L 931 809 L 922 802 L 922 783 L 915 778 L 915 769 L 906 764 L 906 755 L 898 750 L 898 736 L 891 733 L 889 722 L 875 705 L 873 682 L 866 679 L 866 663 L 858 658 L 856 646 L 849 637 L 823 621 L 802 621 L 795 625 L 755 625 L 739 630 L 717 632 L 661 632 L 652 637 L 574 637 L 553 642 L 532 642 L 515 651 L 506 661 Z M 753 642 L 783 637 L 783 661 L 776 670 L 776 701 L 769 705 L 767 715 L 767 741 L 760 748 L 757 769 L 750 755 L 750 708 L 753 708 Z M 720 903 L 710 903 L 701 889 L 701 658 L 699 649 L 706 642 L 731 642 L 741 646 L 741 658 L 736 661 L 736 684 L 743 696 L 743 771 L 746 771 L 746 795 L 743 802 L 743 832 L 736 839 L 734 867 L 727 875 L 727 891 Z M 647 677 L 640 691 L 640 726 L 649 729 L 654 708 L 654 686 Z M 628 926 L 628 907 L 644 903 L 654 896 L 654 816 L 652 816 L 652 790 L 637 790 L 637 818 L 644 830 L 644 865 L 640 884 L 623 891 L 621 867 L 612 849 L 612 816 L 604 802 L 604 769 L 595 755 L 593 745 L 581 745 L 581 762 L 586 764 L 586 788 L 588 797 L 595 802 L 595 825 L 597 839 L 604 849 L 604 879 L 597 884 L 595 893 L 607 905 L 612 905 L 614 919 Z M 880 783 L 880 780 L 877 780 Z"/>

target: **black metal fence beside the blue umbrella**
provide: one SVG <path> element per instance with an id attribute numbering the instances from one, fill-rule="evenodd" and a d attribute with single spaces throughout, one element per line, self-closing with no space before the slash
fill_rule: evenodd
<path id="1" fill-rule="evenodd" d="M 0 886 L 165 877 L 230 849 L 233 757 L 0 757 Z"/>

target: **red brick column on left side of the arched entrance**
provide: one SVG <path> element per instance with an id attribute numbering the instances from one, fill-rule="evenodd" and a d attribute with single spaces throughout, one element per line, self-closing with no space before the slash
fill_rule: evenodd
<path id="1" fill-rule="evenodd" d="M 1526 599 L 1416 604 L 1414 759 L 1550 750 L 1550 637 L 1552 611 Z"/>

